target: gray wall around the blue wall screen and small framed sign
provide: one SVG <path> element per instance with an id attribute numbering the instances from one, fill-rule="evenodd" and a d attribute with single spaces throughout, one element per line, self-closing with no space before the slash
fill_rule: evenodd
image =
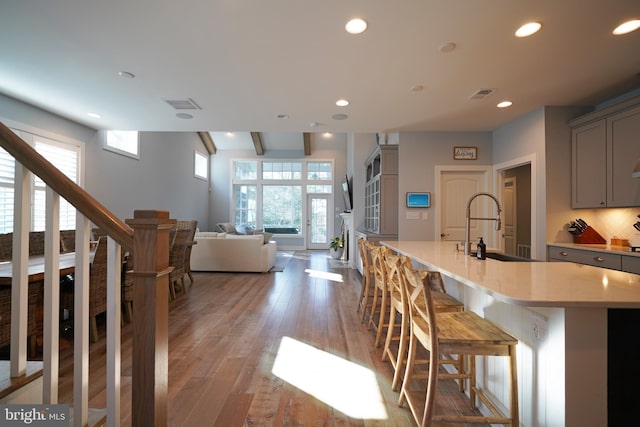
<path id="1" fill-rule="evenodd" d="M 435 166 L 469 165 L 469 160 L 453 160 L 453 147 L 478 147 L 474 165 L 492 164 L 490 132 L 403 132 L 399 135 L 400 176 L 398 185 L 398 238 L 401 240 L 439 240 L 435 237 L 433 212 L 437 207 Z M 405 197 L 409 191 L 431 193 L 428 219 L 407 219 Z M 420 216 L 422 218 L 422 215 Z"/>

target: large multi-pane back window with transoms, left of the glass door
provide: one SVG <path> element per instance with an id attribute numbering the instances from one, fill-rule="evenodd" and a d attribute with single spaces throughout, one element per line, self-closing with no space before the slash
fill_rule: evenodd
<path id="1" fill-rule="evenodd" d="M 235 160 L 232 218 L 240 228 L 301 234 L 306 195 L 332 193 L 332 177 L 331 161 Z"/>

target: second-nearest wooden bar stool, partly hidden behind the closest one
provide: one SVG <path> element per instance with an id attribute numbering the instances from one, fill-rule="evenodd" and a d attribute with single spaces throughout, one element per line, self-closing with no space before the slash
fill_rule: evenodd
<path id="1" fill-rule="evenodd" d="M 391 389 L 397 390 L 400 384 L 400 379 L 404 374 L 402 369 L 406 364 L 407 345 L 409 342 L 409 298 L 406 295 L 404 276 L 401 274 L 401 268 L 403 265 L 407 265 L 411 268 L 411 260 L 406 256 L 392 257 L 387 256 L 385 258 L 387 262 L 387 274 L 389 283 L 389 301 L 390 301 L 390 315 L 389 326 L 387 327 L 387 338 L 382 350 L 382 360 L 389 359 L 391 366 L 394 369 L 393 380 L 391 382 Z M 448 295 L 444 288 L 444 282 L 442 276 L 437 271 L 418 270 L 418 274 L 425 283 L 429 283 L 431 289 L 434 291 L 434 304 L 435 310 L 439 313 L 443 312 L 455 312 L 463 311 L 464 304 Z M 400 321 L 396 322 L 397 317 L 400 317 Z M 397 350 L 394 352 L 393 342 L 398 343 Z M 428 363 L 427 360 L 414 360 L 414 363 Z M 451 364 L 456 367 L 457 370 L 461 370 L 463 358 L 460 355 L 453 357 L 446 355 L 440 360 L 440 364 Z M 460 391 L 464 388 L 464 383 L 460 381 Z"/>

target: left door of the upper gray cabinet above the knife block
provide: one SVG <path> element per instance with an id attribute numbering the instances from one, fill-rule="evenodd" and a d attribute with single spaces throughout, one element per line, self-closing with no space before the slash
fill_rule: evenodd
<path id="1" fill-rule="evenodd" d="M 571 207 L 598 208 L 606 205 L 606 142 L 604 119 L 571 130 Z"/>

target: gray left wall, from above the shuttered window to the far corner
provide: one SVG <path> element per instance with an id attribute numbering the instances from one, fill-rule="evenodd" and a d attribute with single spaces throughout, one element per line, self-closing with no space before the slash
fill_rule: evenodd
<path id="1" fill-rule="evenodd" d="M 101 133 L 0 95 L 0 120 L 48 138 L 84 144 L 83 187 L 121 219 L 136 209 L 168 210 L 172 218 L 208 227 L 209 184 L 193 177 L 193 150 L 206 154 L 195 133 L 141 134 L 141 159 L 102 149 Z"/>

